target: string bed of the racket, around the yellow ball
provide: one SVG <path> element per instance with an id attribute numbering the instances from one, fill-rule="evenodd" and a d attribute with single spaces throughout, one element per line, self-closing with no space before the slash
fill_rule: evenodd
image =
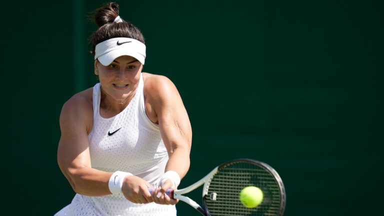
<path id="1" fill-rule="evenodd" d="M 254 208 L 245 207 L 239 193 L 246 186 L 257 186 L 264 194 L 263 201 Z M 215 200 L 209 195 L 215 193 Z M 278 215 L 280 187 L 275 177 L 265 168 L 247 161 L 236 161 L 220 167 L 208 187 L 205 204 L 211 215 Z"/>

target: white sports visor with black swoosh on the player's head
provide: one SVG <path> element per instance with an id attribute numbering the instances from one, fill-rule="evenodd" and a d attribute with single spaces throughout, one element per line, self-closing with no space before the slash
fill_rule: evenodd
<path id="1" fill-rule="evenodd" d="M 145 61 L 145 44 L 128 37 L 115 37 L 98 43 L 95 47 L 94 59 L 98 59 L 104 66 L 112 63 L 121 55 L 129 55 L 140 63 Z"/>

